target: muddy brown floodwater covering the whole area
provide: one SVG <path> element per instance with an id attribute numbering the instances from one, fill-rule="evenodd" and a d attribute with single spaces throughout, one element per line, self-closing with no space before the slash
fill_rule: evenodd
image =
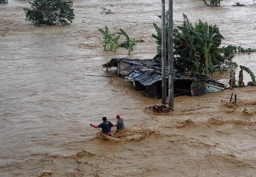
<path id="1" fill-rule="evenodd" d="M 73 1 L 71 25 L 45 27 L 26 22 L 28 1 L 0 5 L 0 176 L 255 176 L 256 87 L 175 97 L 174 112 L 153 114 L 145 107 L 161 100 L 101 67 L 111 58 L 155 55 L 152 23 L 160 25 L 161 2 Z M 174 26 L 185 13 L 193 24 L 217 24 L 223 45 L 256 46 L 254 2 L 221 3 L 174 1 Z M 114 13 L 101 14 L 103 8 Z M 125 49 L 104 52 L 105 26 L 145 43 L 130 56 Z M 255 73 L 255 58 L 240 54 L 234 61 Z M 229 76 L 218 79 L 227 83 Z M 116 114 L 126 130 L 115 137 L 89 126 L 102 116 L 115 122 Z"/>

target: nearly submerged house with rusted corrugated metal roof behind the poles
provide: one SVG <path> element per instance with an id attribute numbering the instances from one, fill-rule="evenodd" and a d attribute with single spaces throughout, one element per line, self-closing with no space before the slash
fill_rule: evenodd
<path id="1" fill-rule="evenodd" d="M 135 90 L 146 90 L 148 97 L 162 98 L 162 63 L 152 59 L 113 58 L 103 68 L 117 68 L 116 72 L 131 82 Z M 211 77 L 186 73 L 181 67 L 174 66 L 174 96 L 200 96 L 222 91 L 226 86 Z M 168 68 L 166 68 L 168 90 Z"/>

